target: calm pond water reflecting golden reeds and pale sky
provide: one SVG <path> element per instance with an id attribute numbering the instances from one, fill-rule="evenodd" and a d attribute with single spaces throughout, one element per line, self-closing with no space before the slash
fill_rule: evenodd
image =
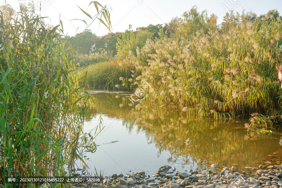
<path id="1" fill-rule="evenodd" d="M 248 119 L 199 118 L 153 103 L 129 106 L 130 92 L 88 92 L 96 100 L 85 116 L 84 131 L 94 135 L 100 116 L 104 127 L 94 140 L 97 151 L 83 153 L 92 173 L 96 168 L 104 176 L 139 170 L 152 175 L 163 165 L 184 171 L 212 164 L 250 171 L 245 167 L 267 160 L 281 164 L 281 134 L 247 132 Z"/>

